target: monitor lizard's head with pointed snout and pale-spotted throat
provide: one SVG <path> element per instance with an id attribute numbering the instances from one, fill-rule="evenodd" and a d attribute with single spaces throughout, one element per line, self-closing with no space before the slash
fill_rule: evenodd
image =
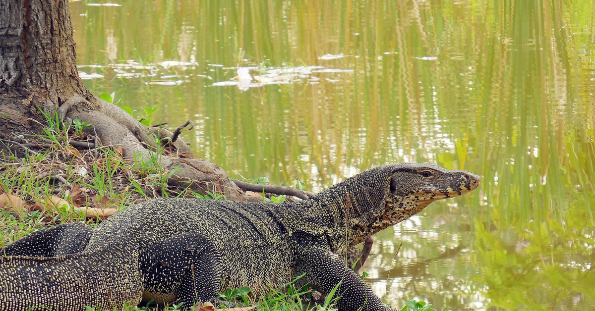
<path id="1" fill-rule="evenodd" d="M 415 215 L 436 200 L 468 193 L 476 189 L 481 180 L 470 172 L 453 171 L 429 163 L 400 163 L 382 168 L 387 180 L 383 186 L 384 200 L 378 202 L 374 212 L 372 227 L 377 230 Z"/>

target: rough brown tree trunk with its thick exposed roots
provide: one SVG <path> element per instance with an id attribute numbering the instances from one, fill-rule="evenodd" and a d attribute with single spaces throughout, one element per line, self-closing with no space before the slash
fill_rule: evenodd
<path id="1" fill-rule="evenodd" d="M 0 0 L 0 7 L 0 139 L 18 143 L 23 133 L 42 133 L 42 111 L 57 114 L 60 121 L 79 119 L 93 125 L 102 143 L 121 146 L 127 159 L 148 158 L 145 146 L 155 147 L 149 133 L 172 136 L 163 128 L 140 124 L 86 89 L 76 67 L 67 0 Z M 179 153 L 190 153 L 181 139 L 173 145 Z M 161 166 L 178 168 L 168 181 L 174 186 L 246 199 L 212 162 L 162 156 Z"/>

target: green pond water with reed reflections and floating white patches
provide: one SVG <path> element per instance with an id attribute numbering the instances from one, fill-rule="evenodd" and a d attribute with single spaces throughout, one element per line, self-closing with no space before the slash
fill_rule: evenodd
<path id="1" fill-rule="evenodd" d="M 87 87 L 192 120 L 183 139 L 232 175 L 483 176 L 377 235 L 387 303 L 595 309 L 593 2 L 114 1 L 70 3 Z"/>

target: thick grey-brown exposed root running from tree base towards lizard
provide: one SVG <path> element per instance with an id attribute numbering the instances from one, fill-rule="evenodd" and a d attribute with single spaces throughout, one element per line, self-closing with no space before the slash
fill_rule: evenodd
<path id="1" fill-rule="evenodd" d="M 79 119 L 93 125 L 93 130 L 103 144 L 120 146 L 124 158 L 135 164 L 151 161 L 151 151 L 143 144 L 157 148 L 159 140 L 174 137 L 174 134 L 165 128 L 140 124 L 120 107 L 98 98 L 91 98 L 89 101 L 80 96 L 73 96 L 63 103 L 57 112 L 60 120 L 65 122 Z M 172 145 L 174 153 L 161 155 L 161 167 L 168 171 L 176 170 L 168 180 L 170 186 L 189 188 L 202 194 L 206 191 L 221 193 L 230 200 L 247 200 L 229 175 L 214 163 L 204 159 L 177 157 L 176 154 L 191 153 L 183 140 L 176 139 L 174 142 L 171 139 L 168 144 Z"/>

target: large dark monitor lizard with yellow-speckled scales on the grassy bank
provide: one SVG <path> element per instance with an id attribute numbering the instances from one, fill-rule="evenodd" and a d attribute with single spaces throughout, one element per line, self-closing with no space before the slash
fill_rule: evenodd
<path id="1" fill-rule="evenodd" d="M 157 199 L 98 225 L 61 225 L 2 250 L 0 310 L 121 308 L 145 300 L 212 301 L 224 288 L 256 295 L 304 274 L 339 310 L 386 310 L 347 249 L 421 211 L 475 189 L 480 178 L 433 164 L 368 169 L 309 200 L 265 204 Z"/>

